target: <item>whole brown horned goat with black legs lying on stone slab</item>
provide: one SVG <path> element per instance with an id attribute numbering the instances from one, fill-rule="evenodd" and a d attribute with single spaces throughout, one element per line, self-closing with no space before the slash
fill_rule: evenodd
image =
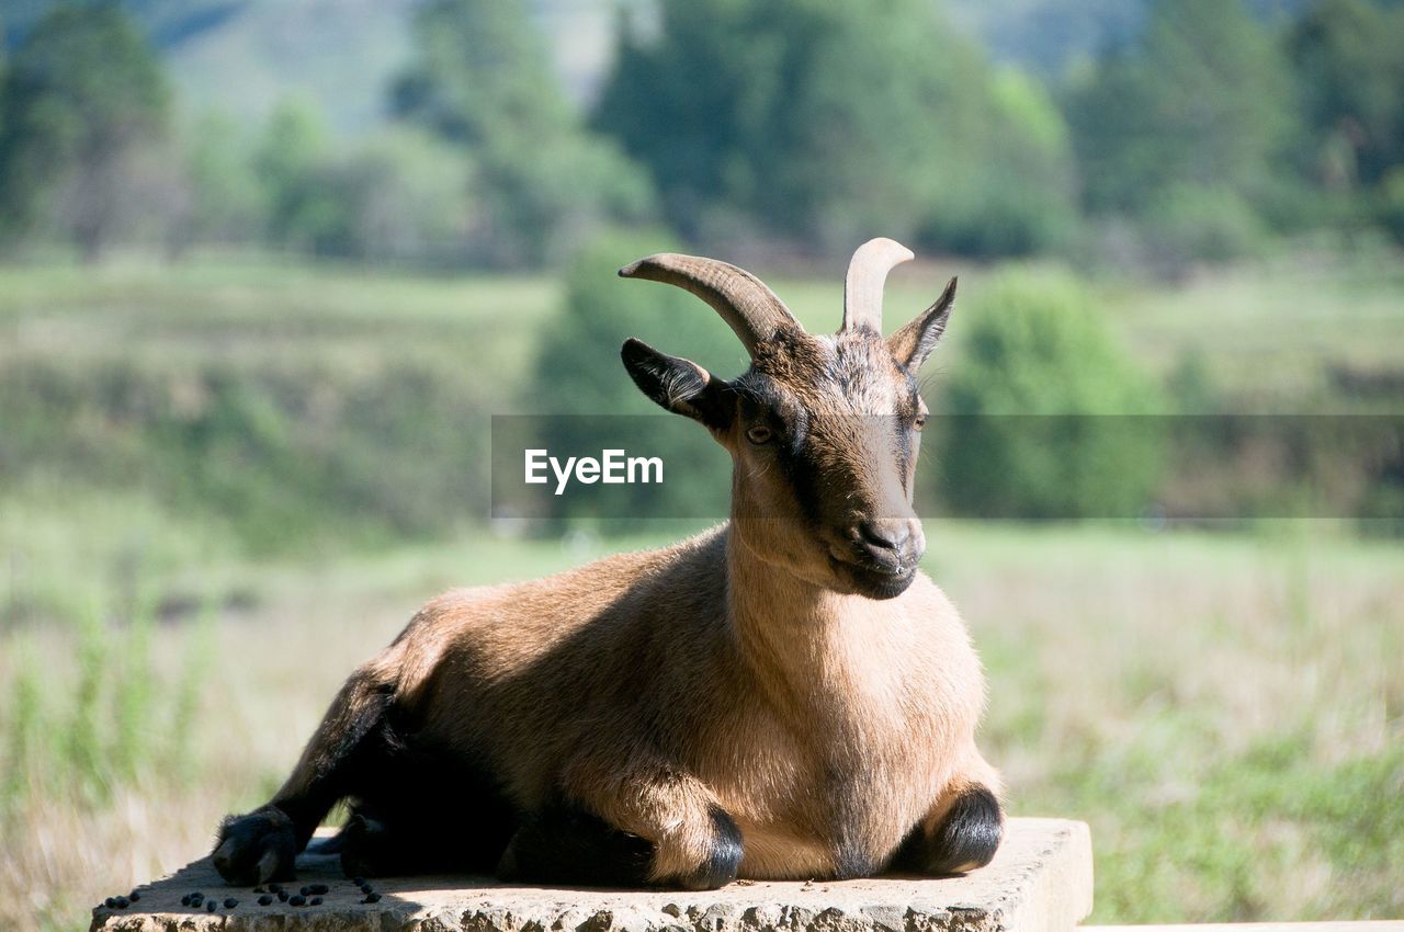
<path id="1" fill-rule="evenodd" d="M 885 340 L 883 284 L 910 258 L 887 239 L 854 254 L 833 337 L 717 260 L 621 269 L 692 292 L 750 354 L 726 382 L 622 350 L 644 394 L 731 455 L 730 519 L 428 602 L 351 674 L 272 800 L 220 825 L 226 881 L 291 877 L 347 797 L 324 844 L 347 876 L 701 890 L 988 863 L 1004 816 L 974 744 L 983 672 L 917 568 L 911 507 L 915 373 L 956 281 Z"/>

